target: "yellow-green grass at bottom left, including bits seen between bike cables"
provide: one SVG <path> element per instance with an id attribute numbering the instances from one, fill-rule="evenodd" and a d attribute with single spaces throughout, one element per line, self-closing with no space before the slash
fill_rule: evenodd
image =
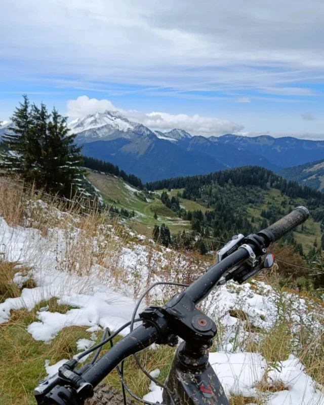
<path id="1" fill-rule="evenodd" d="M 36 401 L 32 395 L 38 382 L 46 377 L 45 361 L 50 360 L 50 365 L 64 358 L 70 359 L 77 353 L 76 341 L 89 339 L 91 333 L 87 327 L 68 327 L 52 340 L 50 344 L 36 341 L 27 332 L 26 328 L 31 322 L 36 321 L 36 311 L 41 305 L 50 305 L 61 313 L 69 307 L 58 305 L 55 300 L 38 304 L 32 311 L 26 309 L 12 311 L 9 322 L 0 326 L 0 405 L 31 405 Z M 98 333 L 97 342 L 102 332 Z M 120 339 L 116 337 L 115 343 Z M 105 347 L 102 354 L 109 349 Z M 159 346 L 157 350 L 144 350 L 139 353 L 139 358 L 146 370 L 160 369 L 159 381 L 164 382 L 171 366 L 174 348 Z M 130 388 L 139 396 L 149 391 L 149 380 L 137 368 L 131 357 L 125 363 L 125 379 Z M 120 389 L 120 380 L 113 371 L 105 380 L 107 384 Z"/>

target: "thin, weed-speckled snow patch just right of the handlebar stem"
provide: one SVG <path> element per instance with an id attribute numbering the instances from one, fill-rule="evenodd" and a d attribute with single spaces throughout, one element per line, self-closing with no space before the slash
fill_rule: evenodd
<path id="1" fill-rule="evenodd" d="M 300 328 L 307 327 L 316 336 L 322 331 L 320 319 L 324 319 L 321 309 L 309 309 L 298 295 L 282 294 L 265 282 L 255 280 L 241 286 L 228 282 L 209 295 L 205 307 L 224 328 L 219 349 L 230 352 L 242 350 L 240 343 L 248 336 L 255 335 L 257 339 L 257 333 L 244 328 L 247 323 L 256 330 L 270 331 L 275 322 L 283 318 L 293 334 L 298 335 Z"/>

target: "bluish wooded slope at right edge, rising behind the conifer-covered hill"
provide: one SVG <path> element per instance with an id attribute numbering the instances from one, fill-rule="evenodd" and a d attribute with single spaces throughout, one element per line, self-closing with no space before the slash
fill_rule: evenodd
<path id="1" fill-rule="evenodd" d="M 282 169 L 278 174 L 287 180 L 295 180 L 300 184 L 324 192 L 324 159 Z"/>

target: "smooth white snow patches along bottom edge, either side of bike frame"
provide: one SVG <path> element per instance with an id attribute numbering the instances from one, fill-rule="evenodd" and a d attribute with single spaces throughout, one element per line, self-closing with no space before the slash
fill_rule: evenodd
<path id="1" fill-rule="evenodd" d="M 246 396 L 262 399 L 265 405 L 323 405 L 324 391 L 304 373 L 301 362 L 294 355 L 268 370 L 267 384 L 279 382 L 284 389 L 277 392 L 260 392 L 258 384 L 264 383 L 267 363 L 258 353 L 210 353 L 209 361 L 219 378 L 227 397 Z M 151 373 L 150 373 L 151 374 Z M 162 403 L 162 389 L 154 382 L 143 399 Z"/>

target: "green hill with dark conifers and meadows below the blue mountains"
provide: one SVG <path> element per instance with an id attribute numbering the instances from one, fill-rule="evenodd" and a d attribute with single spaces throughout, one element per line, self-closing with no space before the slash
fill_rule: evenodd
<path id="1" fill-rule="evenodd" d="M 297 191 L 293 191 L 292 185 L 285 188 L 284 183 L 280 184 L 276 180 L 281 179 L 279 176 L 270 171 L 263 173 L 260 168 L 255 168 L 255 173 L 251 172 L 251 177 L 246 178 L 246 169 L 218 172 L 217 176 L 223 176 L 221 184 L 214 183 L 212 175 L 149 183 L 146 187 L 151 192 L 137 190 L 120 178 L 98 172 L 89 172 L 88 178 L 100 190 L 108 205 L 134 210 L 135 217 L 128 222 L 146 235 L 152 234 L 154 225 L 165 223 L 173 235 L 183 230 L 194 230 L 209 240 L 215 238 L 226 241 L 237 232 L 248 234 L 260 230 L 294 207 L 304 205 L 312 210 L 314 217 L 303 228 L 297 229 L 290 241 L 301 245 L 304 253 L 309 252 L 314 244 L 320 246 L 321 221 L 324 218 L 324 199 L 316 200 L 320 194 L 310 189 L 314 195 L 308 195 L 297 184 Z M 273 183 L 267 185 L 264 180 L 264 187 L 260 187 L 263 181 L 257 181 L 254 177 L 258 175 L 272 177 Z M 237 179 L 240 184 L 233 184 L 231 178 Z M 199 190 L 197 194 L 196 190 Z M 160 200 L 163 192 L 168 193 L 170 200 L 176 198 L 179 208 L 171 209 L 171 205 L 169 208 L 164 205 Z M 157 219 L 154 219 L 154 214 Z"/>

